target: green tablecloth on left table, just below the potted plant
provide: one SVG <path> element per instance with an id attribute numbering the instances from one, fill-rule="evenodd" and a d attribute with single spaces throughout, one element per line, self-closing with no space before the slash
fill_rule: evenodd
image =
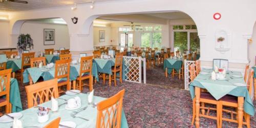
<path id="1" fill-rule="evenodd" d="M 6 69 L 12 69 L 12 72 L 22 69 L 22 59 L 8 59 Z"/>

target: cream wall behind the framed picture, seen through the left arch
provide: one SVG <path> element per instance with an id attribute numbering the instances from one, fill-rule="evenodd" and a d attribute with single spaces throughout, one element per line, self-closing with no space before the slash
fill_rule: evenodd
<path id="1" fill-rule="evenodd" d="M 55 45 L 44 45 L 44 29 L 55 29 Z M 23 24 L 20 33 L 31 35 L 34 44 L 34 49 L 31 51 L 38 52 L 51 48 L 59 49 L 60 47 L 70 48 L 70 35 L 67 25 L 26 22 Z"/>

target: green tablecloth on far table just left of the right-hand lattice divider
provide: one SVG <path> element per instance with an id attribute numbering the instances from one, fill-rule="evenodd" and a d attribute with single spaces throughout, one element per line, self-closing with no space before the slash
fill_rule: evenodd
<path id="1" fill-rule="evenodd" d="M 175 69 L 176 72 L 182 68 L 182 59 L 164 59 L 163 69 L 167 68 L 167 72 L 170 74 Z"/>

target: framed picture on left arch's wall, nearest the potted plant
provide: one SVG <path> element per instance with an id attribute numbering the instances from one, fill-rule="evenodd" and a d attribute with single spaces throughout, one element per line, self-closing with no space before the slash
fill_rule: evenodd
<path id="1" fill-rule="evenodd" d="M 55 45 L 55 29 L 44 29 L 44 45 Z"/>

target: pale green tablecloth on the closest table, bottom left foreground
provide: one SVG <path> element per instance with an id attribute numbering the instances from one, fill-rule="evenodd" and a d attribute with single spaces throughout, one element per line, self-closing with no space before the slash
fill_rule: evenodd
<path id="1" fill-rule="evenodd" d="M 61 96 L 61 98 L 65 98 L 65 99 L 70 99 L 73 98 L 75 96 L 79 96 L 81 98 L 81 108 L 83 108 L 84 106 L 88 105 L 88 101 L 87 101 L 87 94 L 78 94 L 78 95 L 63 95 Z M 100 102 L 102 100 L 104 100 L 105 98 L 102 97 L 97 97 L 94 96 L 94 102 Z M 65 101 L 58 99 L 59 104 L 63 103 Z M 40 104 L 41 106 L 47 106 L 49 108 L 51 108 L 51 101 L 45 102 Z M 39 106 L 40 106 L 39 105 Z M 50 116 L 49 116 L 49 120 L 45 123 L 38 123 L 37 122 L 37 110 L 38 108 L 30 108 L 27 110 L 24 110 L 20 113 L 23 114 L 23 117 L 20 118 L 19 120 L 22 121 L 23 123 L 23 127 L 26 126 L 39 126 L 39 127 L 44 127 L 45 125 L 47 125 L 48 123 L 50 123 L 51 121 L 53 121 L 54 119 L 61 117 L 61 121 L 73 121 L 77 124 L 77 128 L 79 127 L 95 127 L 96 126 L 96 119 L 97 119 L 97 108 L 93 108 L 91 105 L 88 106 L 88 108 L 84 111 L 81 111 L 80 113 L 78 113 L 76 116 L 79 117 L 83 117 L 83 118 L 87 118 L 89 119 L 89 121 L 85 121 L 83 119 L 80 118 L 73 118 L 70 116 L 70 114 L 72 113 L 72 111 L 69 110 L 65 110 L 65 105 L 62 105 L 59 107 L 58 112 L 51 112 L 50 111 Z M 73 110 L 73 111 L 77 111 L 77 110 Z M 12 122 L 10 123 L 0 123 L 1 127 L 10 127 L 12 126 Z M 127 120 L 125 118 L 124 112 L 122 111 L 122 118 L 121 118 L 121 127 L 126 128 L 128 127 L 127 124 Z"/>

